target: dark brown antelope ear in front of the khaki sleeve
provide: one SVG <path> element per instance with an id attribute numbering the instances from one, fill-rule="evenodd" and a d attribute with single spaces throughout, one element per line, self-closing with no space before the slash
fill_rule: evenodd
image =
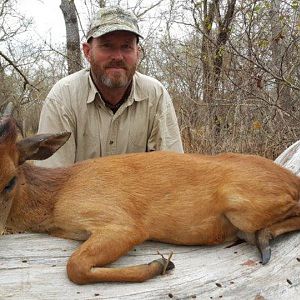
<path id="1" fill-rule="evenodd" d="M 26 160 L 43 160 L 54 154 L 71 136 L 70 132 L 38 134 L 19 141 L 19 165 Z"/>

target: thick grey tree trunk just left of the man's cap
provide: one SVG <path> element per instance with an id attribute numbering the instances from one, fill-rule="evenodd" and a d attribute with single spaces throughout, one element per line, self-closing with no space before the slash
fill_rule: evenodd
<path id="1" fill-rule="evenodd" d="M 79 29 L 74 0 L 61 0 L 60 9 L 66 24 L 68 73 L 72 74 L 82 68 Z"/>

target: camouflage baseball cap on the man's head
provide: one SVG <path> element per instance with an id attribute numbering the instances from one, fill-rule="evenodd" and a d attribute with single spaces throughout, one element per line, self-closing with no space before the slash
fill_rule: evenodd
<path id="1" fill-rule="evenodd" d="M 137 17 L 119 6 L 111 6 L 100 8 L 94 20 L 91 23 L 91 28 L 87 34 L 87 40 L 91 37 L 97 38 L 106 33 L 125 30 L 135 33 L 142 37 L 139 32 Z"/>

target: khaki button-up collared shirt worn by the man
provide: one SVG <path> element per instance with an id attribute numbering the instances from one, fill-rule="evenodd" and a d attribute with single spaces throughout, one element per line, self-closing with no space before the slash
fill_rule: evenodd
<path id="1" fill-rule="evenodd" d="M 47 96 L 39 133 L 72 133 L 68 142 L 39 166 L 59 167 L 121 153 L 183 152 L 175 110 L 160 82 L 135 73 L 128 99 L 115 114 L 105 106 L 89 69 L 58 81 Z"/>

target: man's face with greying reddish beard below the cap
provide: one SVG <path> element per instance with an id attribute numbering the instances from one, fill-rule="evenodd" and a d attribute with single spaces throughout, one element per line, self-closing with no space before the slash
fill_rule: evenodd
<path id="1" fill-rule="evenodd" d="M 83 44 L 96 85 L 123 88 L 130 83 L 138 62 L 137 37 L 128 31 L 114 31 Z"/>

